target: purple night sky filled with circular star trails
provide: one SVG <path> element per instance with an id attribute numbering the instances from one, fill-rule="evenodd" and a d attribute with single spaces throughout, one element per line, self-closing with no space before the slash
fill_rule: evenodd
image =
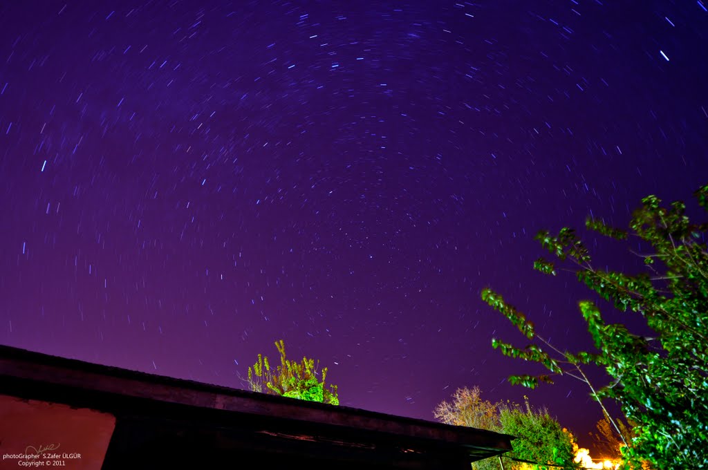
<path id="1" fill-rule="evenodd" d="M 588 445 L 588 389 L 510 386 L 480 292 L 590 347 L 532 238 L 707 183 L 707 8 L 3 1 L 0 343 L 243 388 L 282 338 L 345 406 L 478 385 Z"/>

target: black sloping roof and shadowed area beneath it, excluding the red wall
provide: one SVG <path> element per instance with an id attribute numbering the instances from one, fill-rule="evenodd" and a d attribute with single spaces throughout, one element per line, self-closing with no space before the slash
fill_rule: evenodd
<path id="1" fill-rule="evenodd" d="M 172 379 L 0 346 L 0 394 L 110 413 L 103 469 L 466 469 L 511 449 L 512 436 Z M 4 425 L 8 423 L 3 423 Z"/>

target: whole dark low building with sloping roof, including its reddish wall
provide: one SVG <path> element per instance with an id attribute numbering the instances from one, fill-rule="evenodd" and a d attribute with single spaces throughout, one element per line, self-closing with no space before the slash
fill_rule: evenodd
<path id="1" fill-rule="evenodd" d="M 0 468 L 469 470 L 511 439 L 0 346 Z"/>

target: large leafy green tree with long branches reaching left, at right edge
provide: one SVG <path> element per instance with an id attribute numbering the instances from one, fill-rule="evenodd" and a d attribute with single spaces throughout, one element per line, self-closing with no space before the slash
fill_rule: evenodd
<path id="1" fill-rule="evenodd" d="M 708 211 L 708 185 L 695 193 Z M 550 374 L 516 375 L 513 384 L 535 387 L 552 383 L 553 375 L 581 380 L 603 407 L 612 428 L 622 439 L 622 453 L 629 465 L 646 462 L 656 469 L 708 467 L 708 224 L 692 224 L 683 202 L 663 207 L 658 197 L 641 200 L 629 229 L 619 230 L 588 218 L 586 227 L 600 235 L 627 243 L 640 256 L 646 270 L 630 275 L 602 270 L 593 264 L 587 248 L 569 228 L 552 236 L 541 231 L 536 239 L 579 281 L 612 302 L 620 311 L 641 315 L 654 334 L 651 338 L 630 333 L 621 323 L 605 323 L 592 301 L 579 307 L 596 352 L 569 352 L 556 348 L 535 331 L 524 314 L 491 289 L 482 299 L 506 316 L 529 340 L 525 348 L 494 338 L 493 348 L 504 355 L 539 362 Z M 643 246 L 647 253 L 637 253 Z M 534 268 L 556 275 L 554 263 L 540 258 Z M 612 380 L 602 387 L 591 384 L 583 368 L 603 367 Z M 636 423 L 634 437 L 624 435 L 610 417 L 603 400 L 619 403 L 625 417 Z"/>

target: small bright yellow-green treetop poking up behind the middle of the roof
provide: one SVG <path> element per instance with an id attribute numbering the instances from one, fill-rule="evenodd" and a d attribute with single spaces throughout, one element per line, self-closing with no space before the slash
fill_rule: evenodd
<path id="1" fill-rule="evenodd" d="M 252 391 L 331 405 L 339 404 L 337 386 L 325 384 L 326 367 L 322 369 L 320 381 L 317 378 L 319 362 L 316 365 L 314 359 L 307 357 L 302 357 L 300 362 L 287 359 L 283 340 L 275 341 L 275 347 L 280 352 L 278 367 L 270 367 L 268 357 L 261 354 L 253 367 L 249 367 L 248 383 Z"/>

